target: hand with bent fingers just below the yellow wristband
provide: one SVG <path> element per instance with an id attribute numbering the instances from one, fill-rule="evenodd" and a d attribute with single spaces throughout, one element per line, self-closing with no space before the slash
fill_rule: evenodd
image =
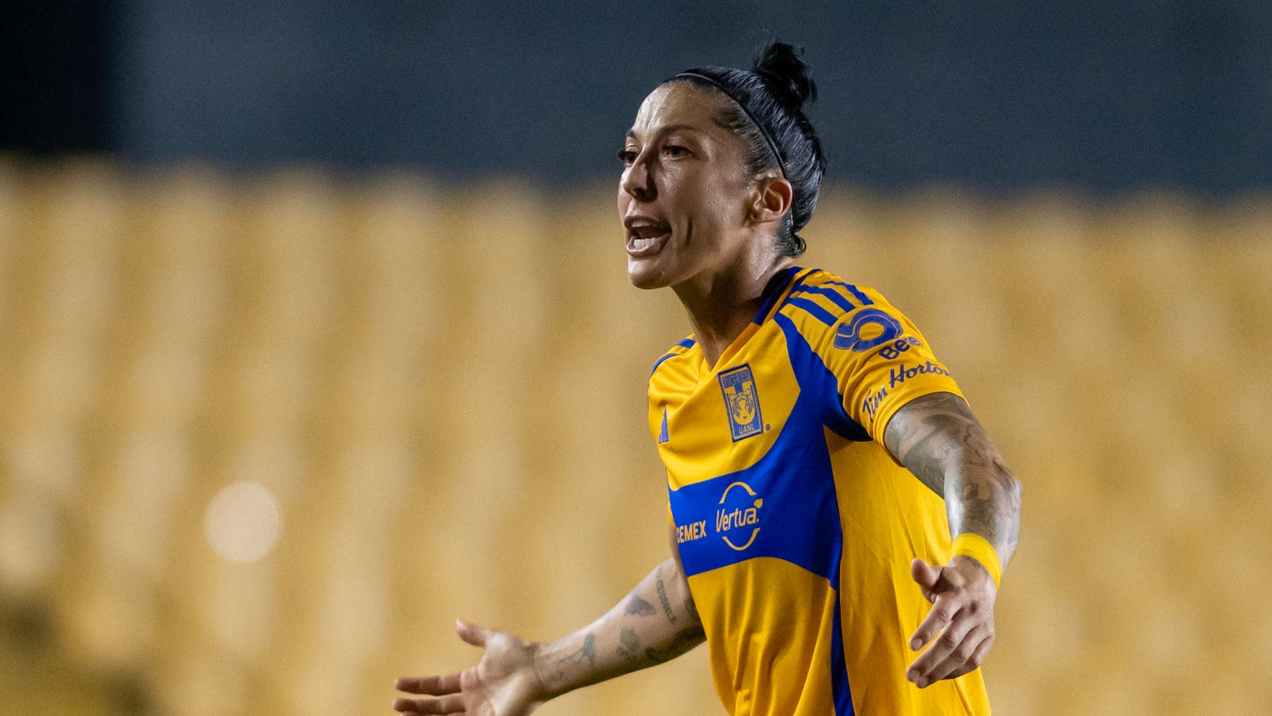
<path id="1" fill-rule="evenodd" d="M 944 567 L 915 560 L 909 571 L 932 603 L 909 647 L 918 651 L 936 641 L 911 664 L 906 678 L 925 688 L 979 666 L 993 646 L 993 599 L 999 589 L 990 572 L 964 556 L 954 557 Z"/>

